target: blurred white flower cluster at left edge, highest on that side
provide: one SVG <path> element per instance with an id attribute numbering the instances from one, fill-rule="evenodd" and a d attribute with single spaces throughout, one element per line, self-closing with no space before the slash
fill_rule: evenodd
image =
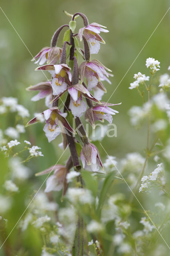
<path id="1" fill-rule="evenodd" d="M 18 104 L 17 98 L 3 97 L 1 102 L 2 105 L 0 105 L 0 114 L 4 114 L 10 110 L 10 112 L 18 112 L 18 115 L 22 118 L 30 116 L 28 109 Z"/>

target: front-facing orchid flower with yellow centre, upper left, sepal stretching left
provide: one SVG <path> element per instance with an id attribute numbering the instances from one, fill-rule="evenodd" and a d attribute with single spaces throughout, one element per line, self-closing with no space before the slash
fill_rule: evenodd
<path id="1" fill-rule="evenodd" d="M 53 95 L 59 95 L 67 88 L 67 80 L 71 82 L 71 72 L 67 64 L 58 65 L 44 65 L 36 68 L 36 70 L 48 70 L 52 75 L 53 79 L 51 82 Z M 65 82 L 66 81 L 66 82 Z"/>

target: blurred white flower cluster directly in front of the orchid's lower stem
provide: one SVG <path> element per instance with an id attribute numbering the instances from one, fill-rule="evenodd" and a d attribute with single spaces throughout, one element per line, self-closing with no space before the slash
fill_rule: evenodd
<path id="1" fill-rule="evenodd" d="M 85 188 L 69 188 L 67 190 L 67 198 L 73 204 L 92 204 L 94 201 L 91 191 Z"/>

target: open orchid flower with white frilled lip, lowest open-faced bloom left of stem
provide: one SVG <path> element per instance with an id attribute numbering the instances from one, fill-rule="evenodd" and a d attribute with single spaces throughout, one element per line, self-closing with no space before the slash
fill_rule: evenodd
<path id="1" fill-rule="evenodd" d="M 71 128 L 71 126 L 65 119 L 67 113 L 61 113 L 58 108 L 53 107 L 45 110 L 44 112 L 42 112 L 42 114 L 46 120 L 43 131 L 45 132 L 48 142 L 54 140 L 61 132 L 66 133 L 66 130 L 75 133 L 75 131 Z M 37 117 L 30 120 L 28 124 L 26 124 L 26 126 L 34 124 L 36 122 L 39 122 L 39 119 Z"/>

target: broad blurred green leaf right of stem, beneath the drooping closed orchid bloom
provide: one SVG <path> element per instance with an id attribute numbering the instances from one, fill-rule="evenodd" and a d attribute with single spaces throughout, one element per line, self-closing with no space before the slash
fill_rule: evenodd
<path id="1" fill-rule="evenodd" d="M 97 180 L 94 176 L 91 175 L 89 171 L 82 171 L 83 180 L 85 182 L 85 187 L 91 190 L 93 196 L 96 198 L 97 196 Z"/>

